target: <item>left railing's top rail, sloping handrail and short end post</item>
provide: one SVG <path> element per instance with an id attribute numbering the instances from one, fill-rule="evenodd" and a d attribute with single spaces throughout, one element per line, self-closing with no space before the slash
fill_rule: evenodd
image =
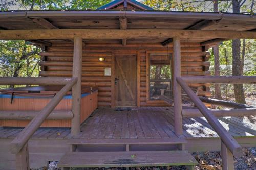
<path id="1" fill-rule="evenodd" d="M 65 85 L 52 100 L 33 116 L 30 123 L 11 142 L 10 149 L 16 155 L 17 169 L 29 169 L 28 141 L 40 125 L 47 119 L 53 109 L 59 104 L 67 92 L 76 84 L 77 78 L 0 78 L 0 85 Z M 73 95 L 73 94 L 72 94 Z M 73 105 L 73 102 L 72 102 Z M 16 114 L 24 114 L 15 112 Z M 70 111 L 69 111 L 70 113 Z M 8 117 L 7 117 L 8 118 Z"/>

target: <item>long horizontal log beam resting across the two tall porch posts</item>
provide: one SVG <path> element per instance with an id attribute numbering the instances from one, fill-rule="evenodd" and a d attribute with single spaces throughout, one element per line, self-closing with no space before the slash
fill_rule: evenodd
<path id="1" fill-rule="evenodd" d="M 217 31 L 217 30 L 170 30 L 170 29 L 36 29 L 36 30 L 0 30 L 0 39 L 132 39 L 132 38 L 181 38 L 202 39 L 256 39 L 254 31 Z"/>

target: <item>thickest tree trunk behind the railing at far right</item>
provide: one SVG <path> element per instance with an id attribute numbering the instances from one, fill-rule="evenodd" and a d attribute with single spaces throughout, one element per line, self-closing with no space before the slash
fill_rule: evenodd
<path id="1" fill-rule="evenodd" d="M 239 0 L 232 0 L 233 13 L 240 13 Z M 233 76 L 241 76 L 241 41 L 240 39 L 233 39 L 232 41 L 232 74 Z M 234 98 L 237 103 L 246 103 L 244 96 L 243 84 L 234 84 Z"/>

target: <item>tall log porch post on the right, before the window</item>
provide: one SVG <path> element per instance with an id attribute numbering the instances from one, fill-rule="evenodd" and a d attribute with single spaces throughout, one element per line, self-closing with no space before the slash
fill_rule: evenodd
<path id="1" fill-rule="evenodd" d="M 176 80 L 177 77 L 181 76 L 180 37 L 174 37 L 173 43 L 174 125 L 176 135 L 182 135 L 181 86 Z"/>

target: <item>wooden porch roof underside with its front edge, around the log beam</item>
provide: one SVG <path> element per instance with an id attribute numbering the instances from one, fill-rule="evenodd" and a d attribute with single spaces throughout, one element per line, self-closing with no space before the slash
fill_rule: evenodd
<path id="1" fill-rule="evenodd" d="M 0 29 L 120 29 L 119 18 L 127 18 L 127 29 L 251 31 L 251 15 L 166 11 L 8 11 L 0 12 Z M 161 43 L 166 38 L 127 39 L 127 43 Z M 182 42 L 204 42 L 209 38 L 186 38 Z M 44 40 L 67 42 L 70 40 Z M 86 43 L 121 43 L 121 39 L 85 39 Z"/>

